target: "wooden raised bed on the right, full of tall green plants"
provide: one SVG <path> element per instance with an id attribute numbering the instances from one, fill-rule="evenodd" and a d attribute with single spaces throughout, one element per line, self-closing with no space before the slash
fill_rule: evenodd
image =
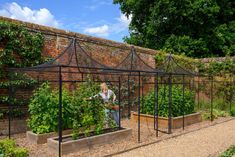
<path id="1" fill-rule="evenodd" d="M 131 120 L 137 122 L 138 121 L 138 113 L 131 112 Z M 195 124 L 201 122 L 201 113 L 193 113 L 184 116 L 184 126 L 188 126 L 191 124 Z M 141 123 L 148 123 L 154 125 L 154 116 L 147 115 L 147 114 L 140 114 L 140 122 Z M 172 129 L 178 129 L 183 127 L 183 116 L 179 117 L 172 117 Z M 168 128 L 168 118 L 165 117 L 158 117 L 158 127 L 167 129 Z"/>

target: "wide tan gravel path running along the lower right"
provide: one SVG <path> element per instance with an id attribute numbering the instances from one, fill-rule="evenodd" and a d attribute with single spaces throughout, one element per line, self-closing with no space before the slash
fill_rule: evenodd
<path id="1" fill-rule="evenodd" d="M 215 157 L 235 144 L 235 119 L 115 157 Z"/>

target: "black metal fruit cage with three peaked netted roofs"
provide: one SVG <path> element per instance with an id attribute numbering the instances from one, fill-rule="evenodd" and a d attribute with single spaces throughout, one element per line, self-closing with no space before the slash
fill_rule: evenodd
<path id="1" fill-rule="evenodd" d="M 105 77 L 105 79 L 95 80 L 97 82 L 105 82 L 107 81 L 106 77 L 109 79 L 108 82 L 110 83 L 118 83 L 118 104 L 119 104 L 119 128 L 121 128 L 121 86 L 123 81 L 127 81 L 127 90 L 128 90 L 128 117 L 130 117 L 131 112 L 131 97 L 137 97 L 137 112 L 138 112 L 138 142 L 141 141 L 141 133 L 140 133 L 140 114 L 141 114 L 141 96 L 144 94 L 144 85 L 153 85 L 154 86 L 154 93 L 155 93 L 155 106 L 154 106 L 154 129 L 156 131 L 156 136 L 158 136 L 158 132 L 165 132 L 165 133 L 172 133 L 171 128 L 171 121 L 172 121 L 172 86 L 175 84 L 182 85 L 182 93 L 183 93 L 183 102 L 184 100 L 184 92 L 186 85 L 194 86 L 194 77 L 207 77 L 200 75 L 199 73 L 191 72 L 183 67 L 181 67 L 176 60 L 174 59 L 173 55 L 169 55 L 166 57 L 164 64 L 162 64 L 157 69 L 154 67 L 149 66 L 145 63 L 140 56 L 136 53 L 135 48 L 132 47 L 130 53 L 127 55 L 126 58 L 123 59 L 117 66 L 115 67 L 108 67 L 103 65 L 93 58 L 91 58 L 88 53 L 83 49 L 80 43 L 74 38 L 71 40 L 69 46 L 62 52 L 58 57 L 55 59 L 38 65 L 34 67 L 28 68 L 12 68 L 9 69 L 10 72 L 17 72 L 17 73 L 27 73 L 34 75 L 37 78 L 38 84 L 44 81 L 53 82 L 57 87 L 59 87 L 59 115 L 58 115 L 58 137 L 59 137 L 59 156 L 61 156 L 61 142 L 62 142 L 62 86 L 65 83 L 74 83 L 74 82 L 84 82 L 84 77 L 87 75 L 91 76 L 101 76 Z M 44 77 L 44 74 L 55 75 L 57 79 L 48 79 Z M 71 76 L 71 77 L 69 77 Z M 116 79 L 112 78 L 115 77 Z M 143 77 L 151 78 L 150 81 L 144 82 Z M 186 78 L 187 77 L 187 78 Z M 124 79 L 123 79 L 124 78 Z M 130 94 L 130 80 L 134 78 L 135 82 L 138 84 L 138 90 L 135 95 Z M 175 78 L 180 78 L 181 82 L 175 82 Z M 186 79 L 189 81 L 187 82 Z M 193 85 L 190 81 L 193 81 Z M 199 84 L 199 81 L 198 81 Z M 159 99 L 158 99 L 158 92 L 159 88 L 161 87 L 166 88 L 168 86 L 168 130 L 162 131 L 159 129 L 158 126 L 158 118 L 159 118 Z M 12 88 L 9 89 L 9 95 L 12 96 Z M 188 87 L 190 88 L 190 87 Z M 197 90 L 199 92 L 199 90 Z M 213 93 L 213 77 L 211 79 L 211 95 Z M 182 106 L 184 107 L 184 106 Z M 11 136 L 11 110 L 12 105 L 8 105 L 9 110 L 9 138 Z M 211 96 L 211 120 L 213 111 L 213 96 Z M 183 129 L 184 129 L 184 112 L 183 112 Z"/>

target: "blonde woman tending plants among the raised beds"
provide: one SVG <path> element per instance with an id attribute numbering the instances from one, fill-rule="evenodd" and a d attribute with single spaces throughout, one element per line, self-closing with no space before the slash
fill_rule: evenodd
<path id="1" fill-rule="evenodd" d="M 108 121 L 107 119 L 109 118 L 109 113 L 111 113 L 114 121 L 116 122 L 117 125 L 119 125 L 119 111 L 118 111 L 119 106 L 110 105 L 110 104 L 114 104 L 116 100 L 116 95 L 114 94 L 112 90 L 108 89 L 108 86 L 106 83 L 101 83 L 100 89 L 101 91 L 93 97 L 100 96 L 102 100 L 104 101 L 104 104 L 106 104 L 105 105 L 106 122 Z M 89 99 L 92 99 L 93 97 L 90 97 Z"/>

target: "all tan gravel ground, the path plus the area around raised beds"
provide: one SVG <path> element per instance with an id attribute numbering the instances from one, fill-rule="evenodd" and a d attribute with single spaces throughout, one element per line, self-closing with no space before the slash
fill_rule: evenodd
<path id="1" fill-rule="evenodd" d="M 185 127 L 185 130 L 173 130 L 172 134 L 159 133 L 156 137 L 156 132 L 152 125 L 141 124 L 141 142 L 137 140 L 137 123 L 130 120 L 123 120 L 122 126 L 132 128 L 132 137 L 129 140 L 123 140 L 112 144 L 106 144 L 99 147 L 88 148 L 84 151 L 70 153 L 66 157 L 100 157 L 107 155 L 114 155 L 128 149 L 142 147 L 146 144 L 159 142 L 164 139 L 191 132 L 187 135 L 178 138 L 172 138 L 158 144 L 152 144 L 143 148 L 134 149 L 133 151 L 121 154 L 119 156 L 197 156 L 214 155 L 218 151 L 226 150 L 231 142 L 235 143 L 235 119 L 231 117 L 218 118 L 213 122 L 203 121 L 201 123 L 193 124 Z M 231 120 L 225 122 L 227 120 Z M 221 124 L 217 124 L 221 123 Z M 214 124 L 217 124 L 213 126 Z M 208 127 L 206 129 L 202 129 Z M 202 129 L 202 130 L 199 130 Z M 208 131 L 207 131 L 208 130 Z M 0 139 L 3 136 L 0 136 Z M 16 134 L 13 136 L 19 146 L 26 147 L 30 152 L 30 157 L 53 157 L 54 154 L 48 151 L 47 144 L 30 144 L 26 139 L 26 134 Z M 217 141 L 218 140 L 218 141 Z M 207 146 L 208 145 L 208 146 Z M 190 147 L 189 147 L 190 146 Z M 205 147 L 205 148 L 204 148 Z M 169 151 L 171 150 L 171 151 Z M 195 155 L 194 155 L 195 152 Z M 177 154 L 177 155 L 176 155 Z M 65 156 L 65 155 L 64 155 Z"/>

